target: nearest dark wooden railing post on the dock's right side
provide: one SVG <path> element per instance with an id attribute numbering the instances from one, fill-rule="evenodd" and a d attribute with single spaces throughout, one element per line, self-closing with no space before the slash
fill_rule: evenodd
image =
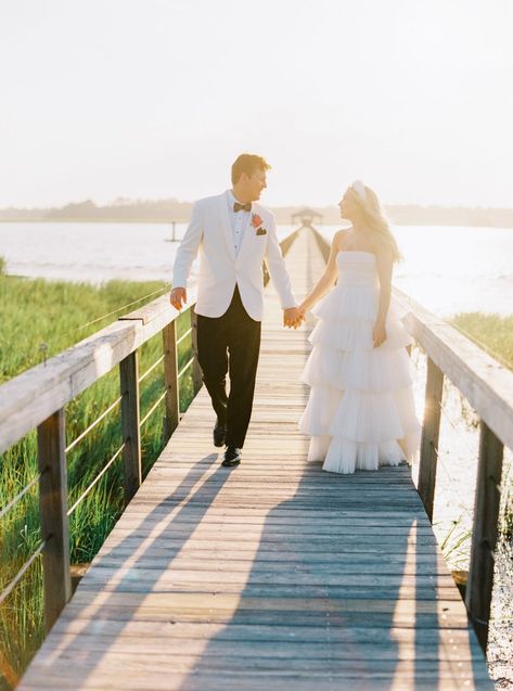
<path id="1" fill-rule="evenodd" d="M 497 545 L 503 452 L 501 440 L 482 421 L 465 604 L 484 650 L 488 640 L 493 587 L 493 552 Z"/>

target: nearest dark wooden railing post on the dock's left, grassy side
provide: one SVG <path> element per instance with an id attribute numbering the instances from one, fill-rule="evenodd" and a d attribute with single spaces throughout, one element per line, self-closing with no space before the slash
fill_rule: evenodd
<path id="1" fill-rule="evenodd" d="M 65 414 L 61 408 L 38 426 L 39 513 L 44 591 L 44 630 L 48 634 L 72 597 Z"/>

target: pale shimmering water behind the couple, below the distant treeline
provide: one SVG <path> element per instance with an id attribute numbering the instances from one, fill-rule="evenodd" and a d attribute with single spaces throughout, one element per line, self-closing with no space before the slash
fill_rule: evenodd
<path id="1" fill-rule="evenodd" d="M 185 223 L 177 223 L 181 238 Z M 321 226 L 331 240 L 338 227 Z M 280 226 L 284 238 L 291 226 Z M 399 226 L 395 284 L 441 316 L 513 313 L 513 229 Z M 169 281 L 178 243 L 168 223 L 0 223 L 8 272 L 100 283 Z"/>

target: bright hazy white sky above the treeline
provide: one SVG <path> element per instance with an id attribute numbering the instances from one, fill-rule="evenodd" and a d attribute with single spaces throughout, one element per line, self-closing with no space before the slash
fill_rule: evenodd
<path id="1" fill-rule="evenodd" d="M 511 0 L 0 0 L 0 206 L 513 207 Z"/>

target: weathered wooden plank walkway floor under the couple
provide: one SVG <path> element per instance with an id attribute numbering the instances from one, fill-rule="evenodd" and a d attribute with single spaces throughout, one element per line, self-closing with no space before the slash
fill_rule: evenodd
<path id="1" fill-rule="evenodd" d="M 324 261 L 303 230 L 295 291 Z M 307 463 L 308 330 L 271 287 L 235 470 L 202 389 L 29 666 L 20 691 L 492 689 L 408 466 Z"/>

